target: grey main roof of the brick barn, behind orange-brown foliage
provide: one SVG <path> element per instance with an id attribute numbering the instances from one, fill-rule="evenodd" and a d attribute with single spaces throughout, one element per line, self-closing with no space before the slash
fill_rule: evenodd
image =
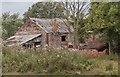
<path id="1" fill-rule="evenodd" d="M 52 20 L 54 21 L 54 19 L 39 19 L 39 18 L 30 18 L 30 19 L 33 22 L 35 22 L 37 25 L 41 26 L 47 32 L 53 32 L 52 26 L 50 25 L 50 23 L 52 23 Z M 68 26 L 66 26 L 67 23 L 65 23 L 67 20 L 59 19 L 59 18 L 55 18 L 55 19 L 56 19 L 56 23 L 58 24 L 57 32 L 68 33 L 69 28 L 68 28 Z M 71 32 L 74 31 L 72 26 L 70 26 L 70 29 L 71 29 Z"/>

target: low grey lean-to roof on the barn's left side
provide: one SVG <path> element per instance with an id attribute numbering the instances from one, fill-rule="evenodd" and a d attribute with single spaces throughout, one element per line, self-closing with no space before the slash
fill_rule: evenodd
<path id="1" fill-rule="evenodd" d="M 16 44 L 24 44 L 38 36 L 40 36 L 41 34 L 34 34 L 34 35 L 16 35 L 16 36 L 12 36 L 10 38 L 8 38 L 6 41 L 8 42 L 17 42 Z"/>

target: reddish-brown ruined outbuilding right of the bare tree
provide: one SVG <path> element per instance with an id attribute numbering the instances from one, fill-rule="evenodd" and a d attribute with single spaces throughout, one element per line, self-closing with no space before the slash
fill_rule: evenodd
<path id="1" fill-rule="evenodd" d="M 87 37 L 86 37 L 87 35 Z M 84 35 L 85 43 L 80 44 L 80 49 L 97 49 L 98 51 L 106 49 L 106 43 L 100 42 L 99 34 L 93 35 L 92 31 L 87 31 Z"/>

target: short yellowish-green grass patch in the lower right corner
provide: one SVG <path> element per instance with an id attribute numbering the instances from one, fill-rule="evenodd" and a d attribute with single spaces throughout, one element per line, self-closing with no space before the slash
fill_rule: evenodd
<path id="1" fill-rule="evenodd" d="M 91 59 L 95 63 L 94 69 L 82 75 L 118 75 L 118 56 L 110 54 Z"/>

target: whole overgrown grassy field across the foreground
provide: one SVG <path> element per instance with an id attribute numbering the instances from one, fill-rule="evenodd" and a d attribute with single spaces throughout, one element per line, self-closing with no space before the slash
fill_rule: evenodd
<path id="1" fill-rule="evenodd" d="M 4 75 L 118 75 L 117 55 L 90 58 L 68 49 L 2 48 Z"/>

